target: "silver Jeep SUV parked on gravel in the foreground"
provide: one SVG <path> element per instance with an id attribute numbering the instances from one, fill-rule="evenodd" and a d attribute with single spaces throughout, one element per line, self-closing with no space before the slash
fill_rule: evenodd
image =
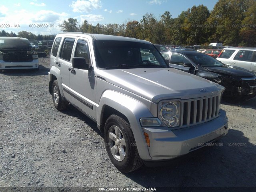
<path id="1" fill-rule="evenodd" d="M 70 103 L 96 122 L 122 172 L 188 154 L 228 132 L 224 87 L 170 68 L 150 42 L 60 33 L 50 67 L 54 106 Z"/>

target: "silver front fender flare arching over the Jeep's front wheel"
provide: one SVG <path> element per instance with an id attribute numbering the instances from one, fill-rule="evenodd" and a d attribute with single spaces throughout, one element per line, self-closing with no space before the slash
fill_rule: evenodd
<path id="1" fill-rule="evenodd" d="M 111 114 L 116 114 L 129 122 L 140 157 L 151 159 L 140 125 L 140 118 L 153 117 L 146 105 L 119 92 L 106 90 L 100 98 L 96 114 L 97 126 L 101 132 L 104 132 L 104 123 Z"/>

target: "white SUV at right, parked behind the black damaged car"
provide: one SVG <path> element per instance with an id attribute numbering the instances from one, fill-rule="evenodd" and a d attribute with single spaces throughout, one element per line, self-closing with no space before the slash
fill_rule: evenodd
<path id="1" fill-rule="evenodd" d="M 256 73 L 256 48 L 224 48 L 217 60 L 224 64 L 238 66 Z"/>

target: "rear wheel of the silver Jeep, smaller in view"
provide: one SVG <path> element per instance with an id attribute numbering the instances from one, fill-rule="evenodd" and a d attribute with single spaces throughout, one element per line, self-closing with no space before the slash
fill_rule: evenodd
<path id="1" fill-rule="evenodd" d="M 52 101 L 56 109 L 59 111 L 65 110 L 68 107 L 68 102 L 62 100 L 58 81 L 54 80 L 52 83 Z"/>

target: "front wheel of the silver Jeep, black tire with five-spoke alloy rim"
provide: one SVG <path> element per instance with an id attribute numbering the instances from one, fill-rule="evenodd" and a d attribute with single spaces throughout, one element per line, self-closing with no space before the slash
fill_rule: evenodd
<path id="1" fill-rule="evenodd" d="M 140 168 L 140 158 L 130 124 L 118 115 L 106 120 L 104 141 L 108 156 L 120 172 L 132 172 Z"/>

